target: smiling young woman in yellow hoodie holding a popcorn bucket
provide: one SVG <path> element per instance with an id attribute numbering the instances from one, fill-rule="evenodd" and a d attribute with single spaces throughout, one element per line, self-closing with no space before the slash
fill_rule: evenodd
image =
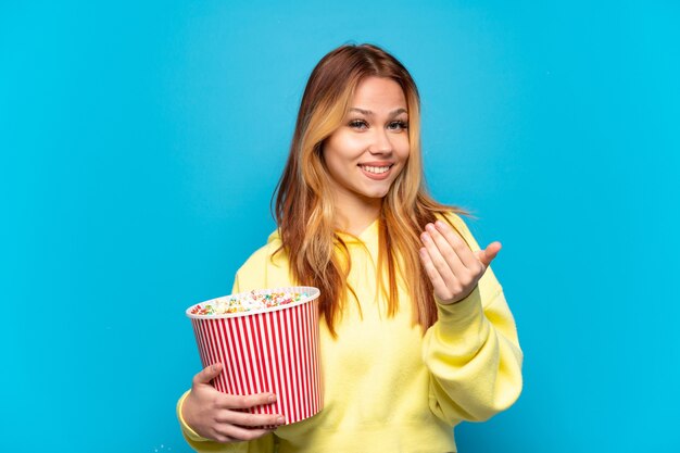
<path id="1" fill-rule="evenodd" d="M 404 66 L 342 46 L 307 83 L 276 199 L 278 229 L 239 269 L 234 292 L 320 289 L 323 411 L 276 430 L 194 376 L 178 402 L 187 441 L 221 452 L 454 452 L 452 428 L 484 420 L 521 391 L 515 323 L 457 209 L 426 193 L 419 97 Z"/>

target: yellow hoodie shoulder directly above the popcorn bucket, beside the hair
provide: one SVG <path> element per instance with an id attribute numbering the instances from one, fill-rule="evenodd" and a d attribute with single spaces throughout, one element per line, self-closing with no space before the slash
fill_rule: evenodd
<path id="1" fill-rule="evenodd" d="M 234 292 L 290 285 L 288 253 L 281 249 L 281 239 L 274 231 L 267 243 L 253 252 L 236 273 Z"/>

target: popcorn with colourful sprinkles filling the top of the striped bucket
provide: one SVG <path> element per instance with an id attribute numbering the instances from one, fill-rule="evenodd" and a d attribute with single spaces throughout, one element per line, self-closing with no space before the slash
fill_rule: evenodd
<path id="1" fill-rule="evenodd" d="M 192 315 L 225 315 L 229 313 L 252 312 L 255 310 L 272 309 L 293 302 L 300 302 L 308 298 L 306 292 L 256 292 L 227 295 L 218 298 L 212 303 L 199 304 L 189 313 Z"/>

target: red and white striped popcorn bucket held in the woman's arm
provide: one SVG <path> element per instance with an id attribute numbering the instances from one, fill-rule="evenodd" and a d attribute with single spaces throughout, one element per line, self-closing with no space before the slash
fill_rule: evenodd
<path id="1" fill-rule="evenodd" d="M 253 414 L 281 414 L 286 424 L 303 420 L 324 405 L 318 350 L 318 295 L 312 287 L 273 288 L 257 293 L 299 292 L 299 302 L 251 312 L 197 315 L 187 309 L 203 367 L 223 363 L 213 380 L 222 392 L 244 395 L 272 392 L 273 404 L 249 410 Z M 245 293 L 243 293 L 245 294 Z M 241 297 L 243 294 L 234 294 Z"/>

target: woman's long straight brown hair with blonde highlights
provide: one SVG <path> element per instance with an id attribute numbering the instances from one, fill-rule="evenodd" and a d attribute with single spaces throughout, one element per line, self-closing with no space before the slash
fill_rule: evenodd
<path id="1" fill-rule="evenodd" d="M 463 211 L 433 201 L 427 193 L 420 152 L 420 98 L 406 68 L 373 45 L 341 46 L 326 54 L 307 81 L 284 174 L 276 188 L 276 221 L 289 255 L 291 277 L 320 289 L 319 310 L 330 332 L 342 312 L 352 265 L 349 249 L 336 232 L 330 177 L 323 160 L 324 140 L 342 124 L 354 91 L 367 77 L 386 77 L 404 91 L 408 110 L 410 154 L 387 196 L 379 218 L 378 278 L 388 316 L 399 309 L 401 277 L 413 304 L 413 322 L 423 330 L 437 320 L 432 286 L 418 257 L 419 235 L 436 214 Z M 387 280 L 387 281 L 386 281 Z"/>

